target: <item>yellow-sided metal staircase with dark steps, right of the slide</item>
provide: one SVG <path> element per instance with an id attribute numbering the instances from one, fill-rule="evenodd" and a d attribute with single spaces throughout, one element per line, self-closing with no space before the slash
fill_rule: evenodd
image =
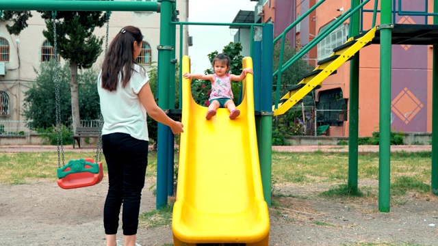
<path id="1" fill-rule="evenodd" d="M 376 27 L 359 36 L 348 39 L 345 44 L 333 49 L 333 54 L 330 57 L 319 61 L 315 70 L 303 75 L 303 79 L 300 83 L 289 87 L 289 92 L 279 100 L 277 109 L 275 109 L 275 105 L 272 106 L 274 115 L 282 115 L 309 94 L 309 92 L 320 88 L 324 79 L 331 74 L 335 74 L 337 68 L 351 59 L 364 46 L 371 44 L 375 35 Z"/>

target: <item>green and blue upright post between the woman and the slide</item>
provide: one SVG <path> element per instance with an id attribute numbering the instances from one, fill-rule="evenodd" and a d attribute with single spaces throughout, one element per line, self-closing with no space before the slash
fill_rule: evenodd
<path id="1" fill-rule="evenodd" d="M 161 2 L 160 32 L 158 46 L 158 106 L 169 109 L 169 80 L 170 80 L 170 55 L 172 53 L 172 0 L 158 0 Z M 168 140 L 170 128 L 158 123 L 157 136 L 157 209 L 168 204 Z"/>

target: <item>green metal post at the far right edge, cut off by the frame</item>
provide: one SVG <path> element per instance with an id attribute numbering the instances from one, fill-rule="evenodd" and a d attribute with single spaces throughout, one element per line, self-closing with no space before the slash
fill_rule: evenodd
<path id="1" fill-rule="evenodd" d="M 438 0 L 433 1 L 433 12 L 438 13 Z M 433 23 L 438 24 L 438 17 L 433 17 Z M 432 67 L 432 193 L 438 195 L 438 45 L 433 46 Z"/>

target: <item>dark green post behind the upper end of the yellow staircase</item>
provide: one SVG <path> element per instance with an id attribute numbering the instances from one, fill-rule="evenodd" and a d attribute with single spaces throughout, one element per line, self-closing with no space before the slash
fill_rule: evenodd
<path id="1" fill-rule="evenodd" d="M 360 0 L 352 0 L 351 8 L 356 8 Z M 360 13 L 352 15 L 350 18 L 350 37 L 359 35 Z M 348 187 L 353 191 L 358 191 L 358 145 L 359 145 L 359 52 L 350 61 L 350 112 L 348 129 Z"/>

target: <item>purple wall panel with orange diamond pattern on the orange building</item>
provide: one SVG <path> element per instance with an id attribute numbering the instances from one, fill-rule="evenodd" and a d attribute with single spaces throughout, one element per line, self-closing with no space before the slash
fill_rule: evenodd
<path id="1" fill-rule="evenodd" d="M 424 12 L 427 0 L 402 0 L 402 11 Z M 397 9 L 400 8 L 396 3 Z M 396 16 L 396 23 L 424 24 L 424 16 Z M 427 131 L 427 46 L 392 46 L 391 126 L 404 132 Z"/>

